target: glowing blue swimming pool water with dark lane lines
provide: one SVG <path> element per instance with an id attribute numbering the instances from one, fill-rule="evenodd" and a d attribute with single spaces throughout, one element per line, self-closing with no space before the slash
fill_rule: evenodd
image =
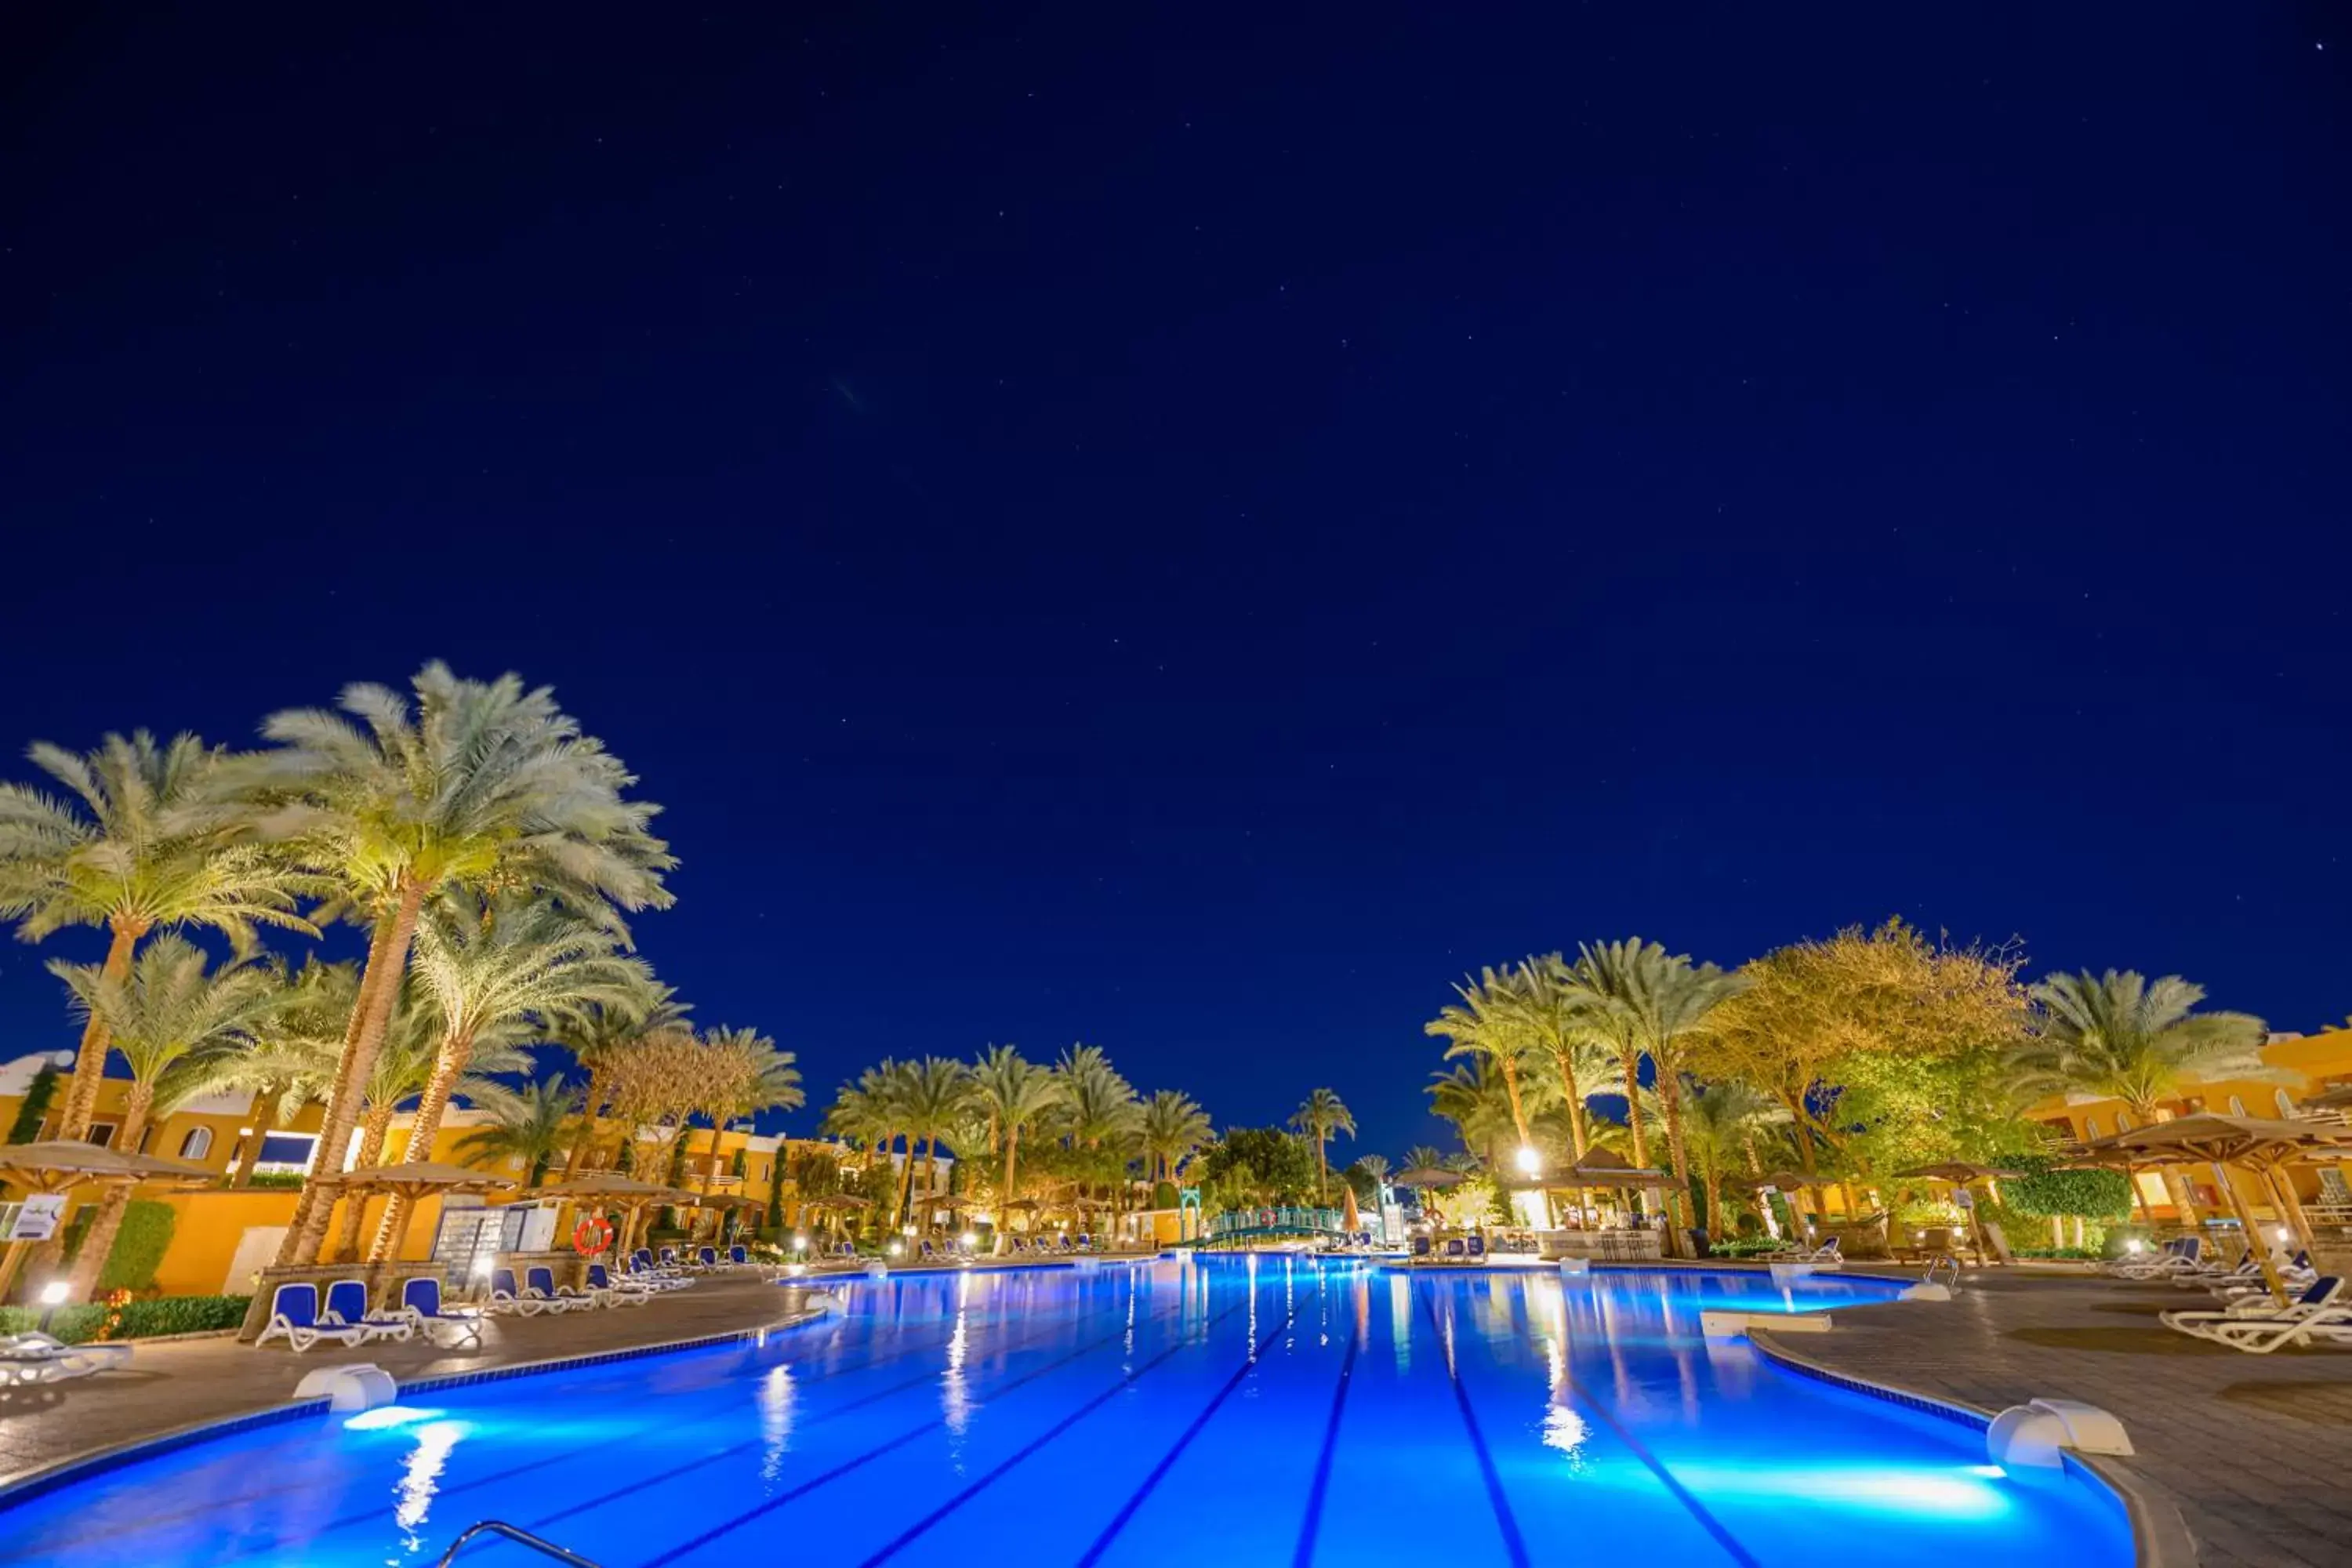
<path id="1" fill-rule="evenodd" d="M 607 1568 L 2131 1563 L 2103 1488 L 1698 1333 L 1863 1295 L 1284 1258 L 858 1281 L 757 1345 L 132 1462 L 0 1512 L 0 1561 L 397 1568 L 494 1516 Z"/>

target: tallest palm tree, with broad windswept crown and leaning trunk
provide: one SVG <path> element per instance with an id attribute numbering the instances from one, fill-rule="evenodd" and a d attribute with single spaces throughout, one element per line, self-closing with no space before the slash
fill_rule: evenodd
<path id="1" fill-rule="evenodd" d="M 661 872 L 675 860 L 647 832 L 656 806 L 623 799 L 635 778 L 581 733 L 553 691 L 524 691 L 513 675 L 459 679 L 437 661 L 412 684 L 414 708 L 362 682 L 341 693 L 350 717 L 318 708 L 270 715 L 261 733 L 278 748 L 238 759 L 240 790 L 268 806 L 256 832 L 332 877 L 334 907 L 369 924 L 360 1004 L 320 1126 L 327 1171 L 341 1166 L 360 1117 L 428 898 L 527 886 L 616 931 L 616 910 L 670 903 Z M 315 1260 L 327 1192 L 303 1185 L 278 1262 Z"/>

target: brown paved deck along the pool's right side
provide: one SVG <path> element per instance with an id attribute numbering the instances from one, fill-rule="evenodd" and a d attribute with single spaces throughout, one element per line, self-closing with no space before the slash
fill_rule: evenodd
<path id="1" fill-rule="evenodd" d="M 1842 1307 L 1837 1328 L 1766 1340 L 1872 1382 L 1994 1413 L 2027 1399 L 2112 1410 L 2138 1450 L 2117 1462 L 2178 1507 L 2201 1568 L 2352 1563 L 2352 1352 L 2251 1356 L 2173 1333 L 2204 1291 L 2107 1279 L 1971 1274 L 1952 1302 Z"/>

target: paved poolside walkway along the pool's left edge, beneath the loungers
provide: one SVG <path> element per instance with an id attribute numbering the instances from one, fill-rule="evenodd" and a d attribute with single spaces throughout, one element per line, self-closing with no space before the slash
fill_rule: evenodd
<path id="1" fill-rule="evenodd" d="M 0 1486 L 94 1448 L 268 1410 L 294 1396 L 303 1373 L 343 1361 L 374 1361 L 400 1380 L 480 1373 L 524 1361 L 781 1328 L 809 1312 L 804 1291 L 750 1276 L 710 1276 L 647 1307 L 492 1319 L 482 1328 L 480 1349 L 440 1349 L 423 1335 L 407 1345 L 379 1340 L 367 1349 L 320 1347 L 301 1356 L 282 1345 L 254 1349 L 228 1338 L 139 1345 L 129 1371 L 0 1389 Z"/>

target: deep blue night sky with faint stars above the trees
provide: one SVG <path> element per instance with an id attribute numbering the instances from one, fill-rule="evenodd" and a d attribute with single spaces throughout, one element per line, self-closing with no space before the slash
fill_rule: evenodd
<path id="1" fill-rule="evenodd" d="M 1465 966 L 1896 912 L 2352 1013 L 2331 7 L 169 9 L 0 21 L 0 743 L 550 682 L 797 1128 L 1395 1157 Z"/>

